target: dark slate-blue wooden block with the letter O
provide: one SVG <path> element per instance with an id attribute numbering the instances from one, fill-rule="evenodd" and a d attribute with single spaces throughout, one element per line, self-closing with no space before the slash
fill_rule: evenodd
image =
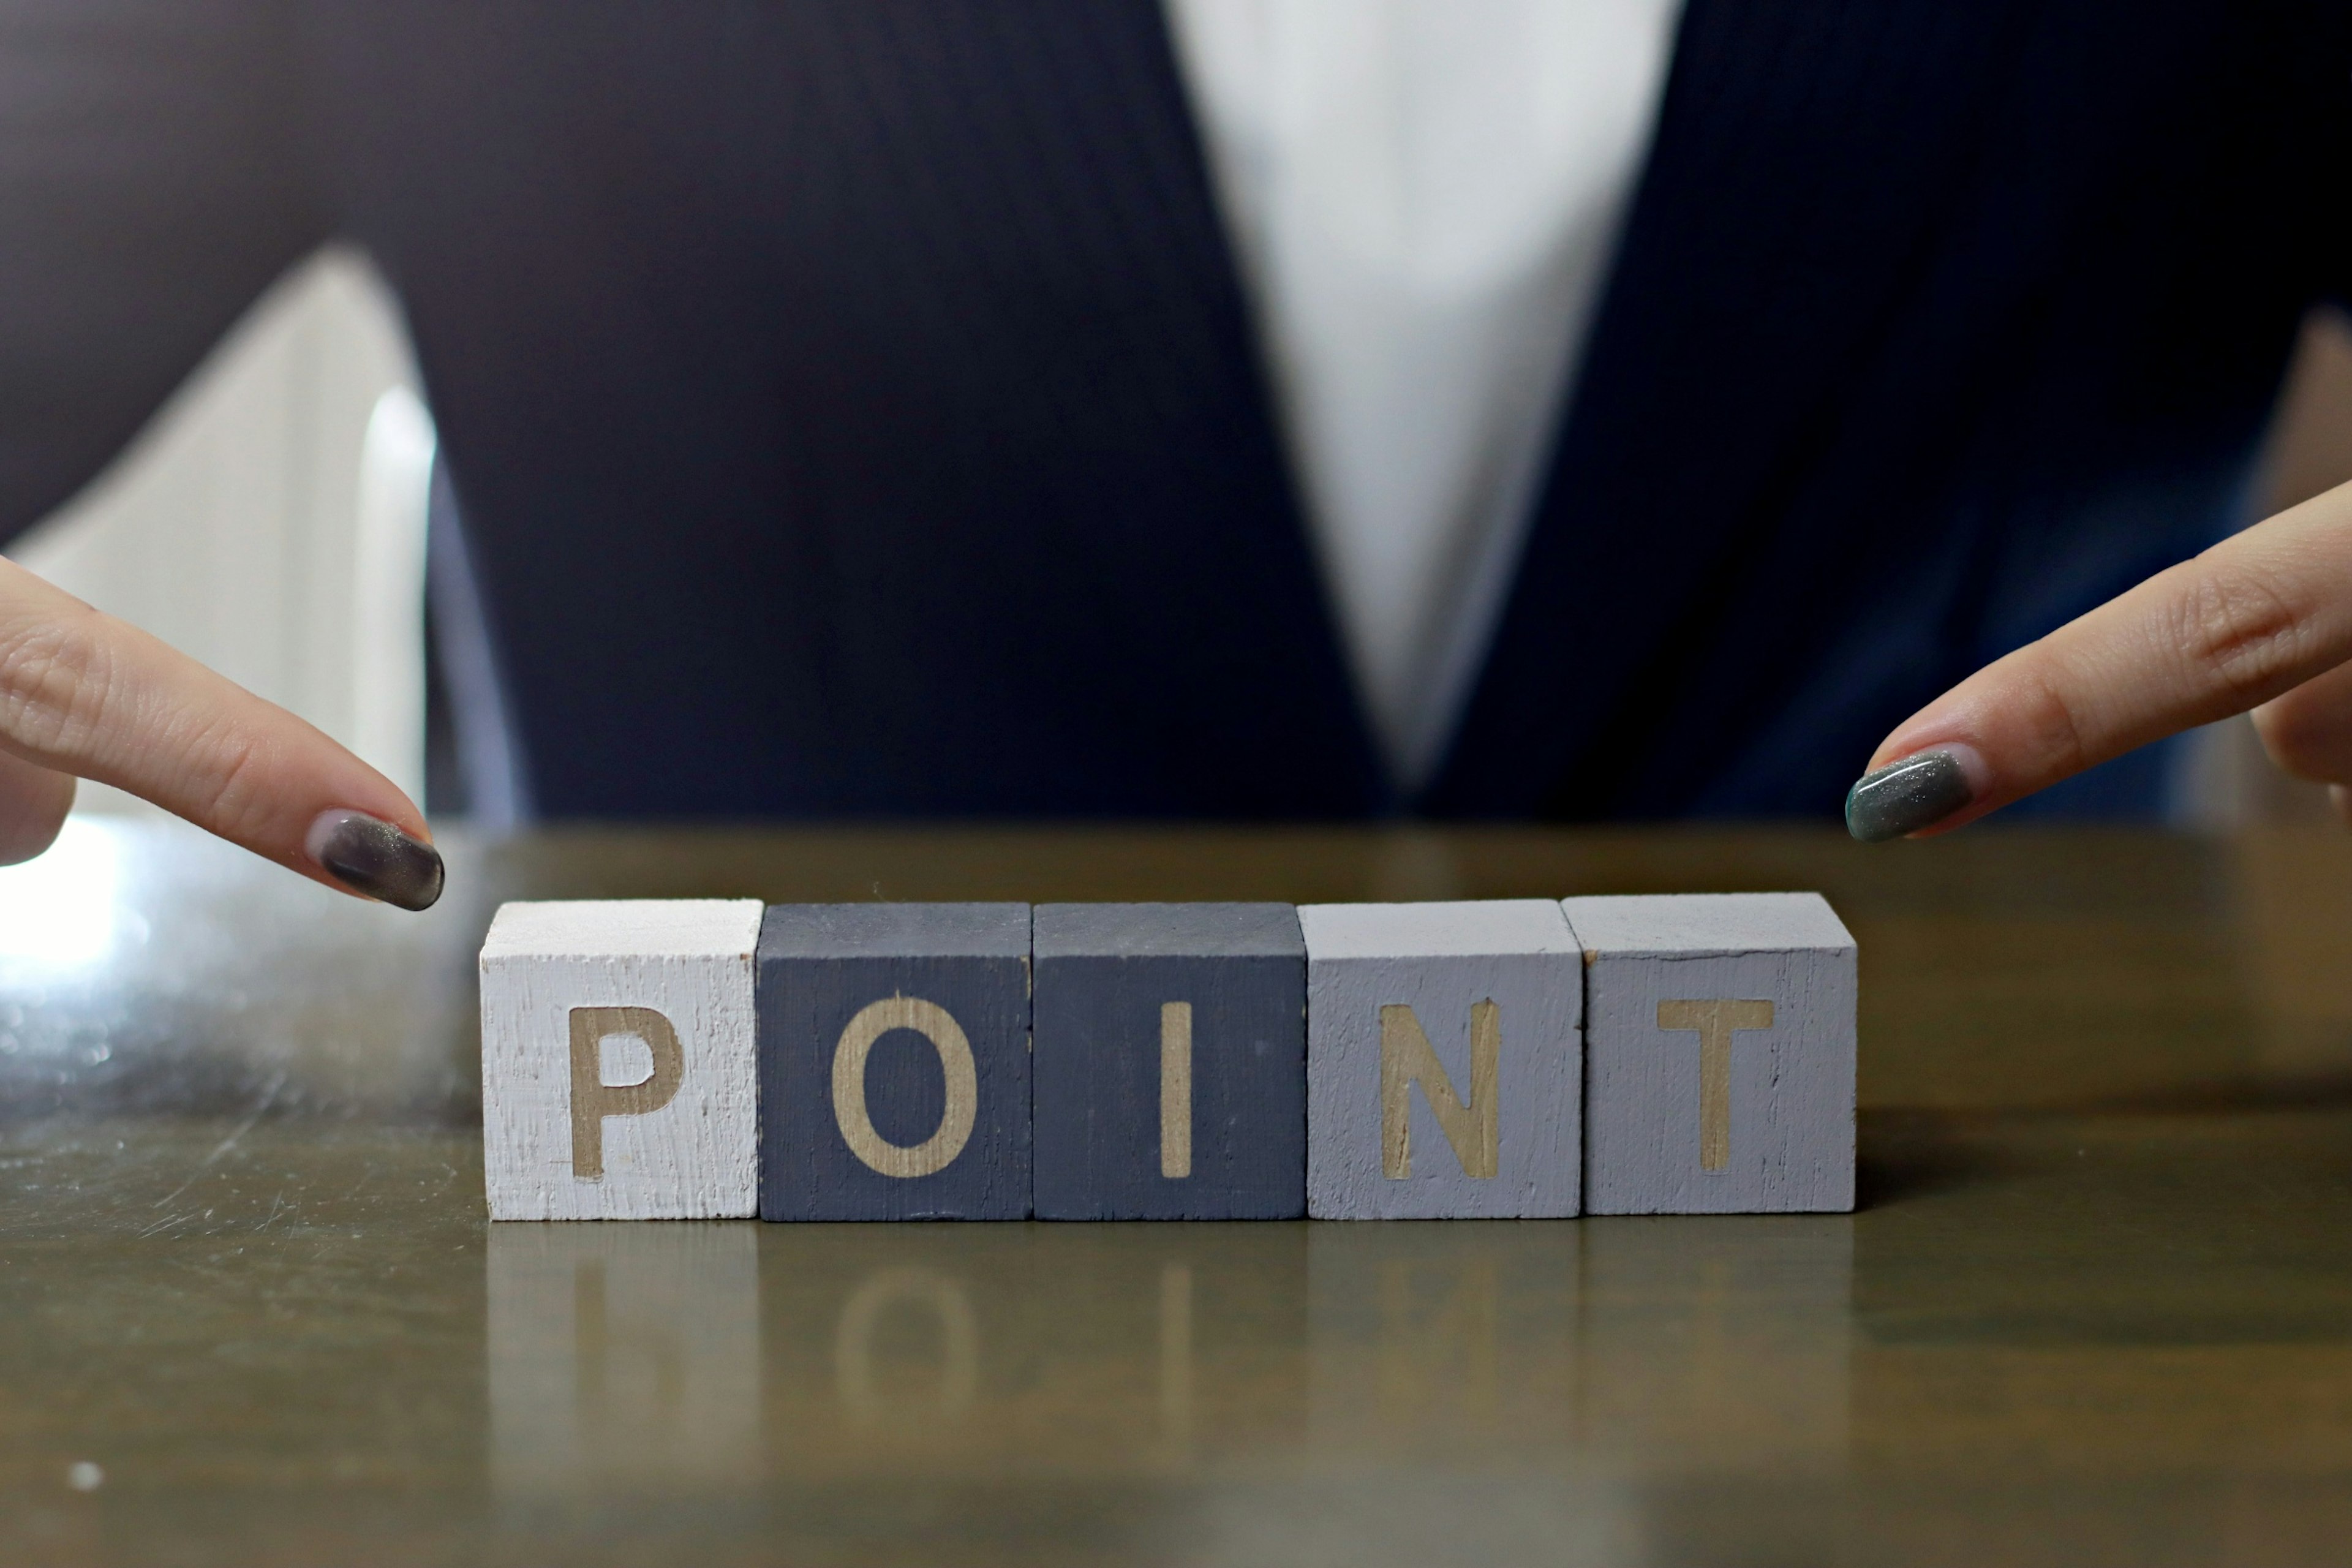
<path id="1" fill-rule="evenodd" d="M 771 907 L 760 1117 L 764 1220 L 1028 1218 L 1028 905 Z"/>

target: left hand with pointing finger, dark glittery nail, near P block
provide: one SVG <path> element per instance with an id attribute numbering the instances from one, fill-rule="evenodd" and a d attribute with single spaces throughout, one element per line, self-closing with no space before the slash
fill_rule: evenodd
<path id="1" fill-rule="evenodd" d="M 0 865 L 94 778 L 327 886 L 423 910 L 442 860 L 393 780 L 310 724 L 0 559 Z"/>

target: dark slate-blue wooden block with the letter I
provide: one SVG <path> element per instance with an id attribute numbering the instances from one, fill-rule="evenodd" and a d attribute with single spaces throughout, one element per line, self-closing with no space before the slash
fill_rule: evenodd
<path id="1" fill-rule="evenodd" d="M 1287 903 L 1037 905 L 1040 1220 L 1308 1211 L 1308 950 Z"/>

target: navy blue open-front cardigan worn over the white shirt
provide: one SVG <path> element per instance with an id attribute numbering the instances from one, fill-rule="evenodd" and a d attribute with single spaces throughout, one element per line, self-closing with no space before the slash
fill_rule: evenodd
<path id="1" fill-rule="evenodd" d="M 2347 71 L 2321 0 L 1691 0 L 1414 799 L 1152 0 L 0 0 L 0 536 L 341 235 L 548 816 L 1830 813 L 2237 520 Z"/>

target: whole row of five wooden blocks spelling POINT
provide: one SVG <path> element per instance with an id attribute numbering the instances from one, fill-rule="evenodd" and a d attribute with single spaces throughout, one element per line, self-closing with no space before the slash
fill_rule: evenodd
<path id="1" fill-rule="evenodd" d="M 1853 1206 L 1818 893 L 510 903 L 496 1220 L 1279 1220 Z"/>

